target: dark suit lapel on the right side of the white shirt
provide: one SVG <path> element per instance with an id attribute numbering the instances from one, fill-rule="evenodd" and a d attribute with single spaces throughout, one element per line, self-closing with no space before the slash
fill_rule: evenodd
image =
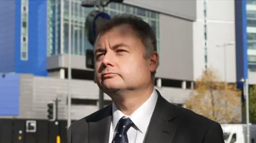
<path id="1" fill-rule="evenodd" d="M 167 102 L 158 91 L 157 93 L 158 99 L 149 123 L 145 143 L 172 142 L 178 128 L 178 124 L 174 120 L 177 117 L 174 105 Z"/>

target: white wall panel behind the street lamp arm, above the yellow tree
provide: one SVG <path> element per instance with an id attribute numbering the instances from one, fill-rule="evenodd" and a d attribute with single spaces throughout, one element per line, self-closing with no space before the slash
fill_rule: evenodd
<path id="1" fill-rule="evenodd" d="M 227 82 L 236 82 L 236 48 L 234 29 L 234 22 L 209 22 L 207 24 L 207 30 L 209 31 L 207 33 L 207 57 L 209 67 L 212 67 L 218 72 L 220 80 L 226 80 Z M 227 43 L 233 43 L 234 45 L 226 47 L 223 46 Z"/>

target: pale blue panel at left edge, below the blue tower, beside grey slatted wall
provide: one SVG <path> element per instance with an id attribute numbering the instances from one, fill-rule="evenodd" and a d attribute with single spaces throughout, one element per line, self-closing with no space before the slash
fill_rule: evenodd
<path id="1" fill-rule="evenodd" d="M 17 116 L 19 115 L 19 74 L 6 74 L 5 78 L 2 78 L 2 73 L 0 75 L 0 115 Z"/>

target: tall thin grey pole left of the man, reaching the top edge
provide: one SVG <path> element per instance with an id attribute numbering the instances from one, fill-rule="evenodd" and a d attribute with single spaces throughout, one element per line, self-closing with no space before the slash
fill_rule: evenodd
<path id="1" fill-rule="evenodd" d="M 67 121 L 67 129 L 71 124 L 71 0 L 69 0 L 68 4 L 68 121 Z"/>

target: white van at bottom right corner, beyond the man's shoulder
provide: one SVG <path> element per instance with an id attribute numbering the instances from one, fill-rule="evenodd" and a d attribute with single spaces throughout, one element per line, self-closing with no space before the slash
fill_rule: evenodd
<path id="1" fill-rule="evenodd" d="M 246 124 L 221 124 L 225 143 L 247 143 Z M 250 125 L 250 143 L 256 143 L 256 124 Z"/>

